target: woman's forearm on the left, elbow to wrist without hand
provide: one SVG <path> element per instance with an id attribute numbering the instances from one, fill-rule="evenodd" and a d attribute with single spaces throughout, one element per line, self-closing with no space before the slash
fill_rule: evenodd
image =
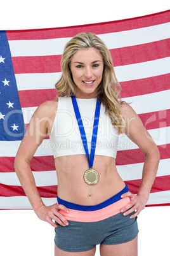
<path id="1" fill-rule="evenodd" d="M 34 211 L 37 211 L 44 203 L 37 191 L 36 182 L 29 163 L 15 159 L 15 171 L 32 208 Z"/>

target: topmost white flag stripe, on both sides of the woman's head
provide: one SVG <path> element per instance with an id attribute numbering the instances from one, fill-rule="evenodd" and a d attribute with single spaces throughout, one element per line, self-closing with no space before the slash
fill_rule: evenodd
<path id="1" fill-rule="evenodd" d="M 170 36 L 169 31 L 170 23 L 165 23 L 140 29 L 99 34 L 98 36 L 105 42 L 108 49 L 114 49 L 167 39 Z M 11 40 L 9 44 L 12 57 L 60 55 L 70 39 Z"/>

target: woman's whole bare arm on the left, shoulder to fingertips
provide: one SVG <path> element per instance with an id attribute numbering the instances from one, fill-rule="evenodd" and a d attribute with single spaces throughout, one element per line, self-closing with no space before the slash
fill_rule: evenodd
<path id="1" fill-rule="evenodd" d="M 37 108 L 15 157 L 15 171 L 32 208 L 41 220 L 48 222 L 53 227 L 57 227 L 57 225 L 52 220 L 55 220 L 60 225 L 67 225 L 67 220 L 58 213 L 58 210 L 67 211 L 67 208 L 57 204 L 48 207 L 44 205 L 30 169 L 30 160 L 46 137 L 46 134 L 51 131 L 56 107 L 57 103 L 55 101 L 47 101 Z"/>

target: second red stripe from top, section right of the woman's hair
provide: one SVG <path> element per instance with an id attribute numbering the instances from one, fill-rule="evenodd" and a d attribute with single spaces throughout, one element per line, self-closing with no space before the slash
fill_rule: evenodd
<path id="1" fill-rule="evenodd" d="M 123 66 L 169 57 L 170 39 L 110 50 L 114 66 Z"/>

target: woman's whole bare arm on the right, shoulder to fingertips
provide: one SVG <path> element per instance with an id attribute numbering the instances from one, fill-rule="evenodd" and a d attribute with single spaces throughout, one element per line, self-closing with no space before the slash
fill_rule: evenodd
<path id="1" fill-rule="evenodd" d="M 126 103 L 122 103 L 121 113 L 126 119 L 126 135 L 131 141 L 138 145 L 141 151 L 145 154 L 145 163 L 138 194 L 134 196 L 131 192 L 127 192 L 122 195 L 122 197 L 129 196 L 131 199 L 131 203 L 124 207 L 122 212 L 125 211 L 124 215 L 128 215 L 129 213 L 136 211 L 134 215 L 131 215 L 131 218 L 134 218 L 147 204 L 150 190 L 157 174 L 160 153 L 154 140 L 143 126 L 133 108 Z"/>

